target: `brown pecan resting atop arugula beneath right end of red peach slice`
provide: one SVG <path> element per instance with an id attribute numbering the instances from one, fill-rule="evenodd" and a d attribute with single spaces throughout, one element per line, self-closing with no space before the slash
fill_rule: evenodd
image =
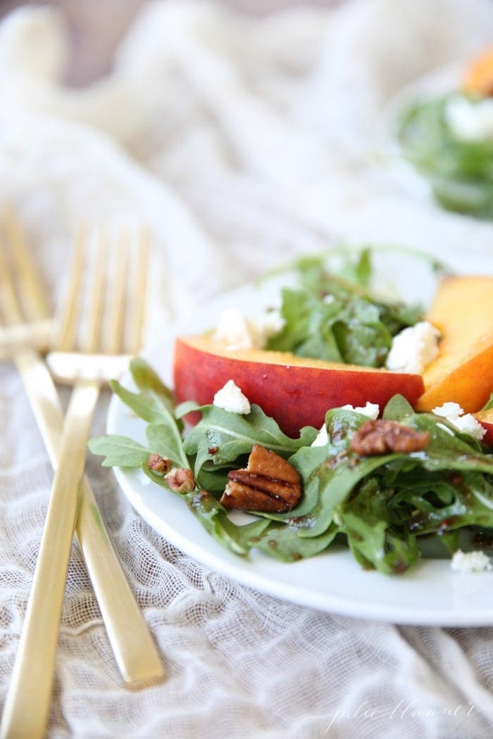
<path id="1" fill-rule="evenodd" d="M 367 420 L 351 439 L 350 449 L 361 457 L 388 452 L 419 452 L 429 442 L 427 431 L 415 431 L 395 420 Z"/>

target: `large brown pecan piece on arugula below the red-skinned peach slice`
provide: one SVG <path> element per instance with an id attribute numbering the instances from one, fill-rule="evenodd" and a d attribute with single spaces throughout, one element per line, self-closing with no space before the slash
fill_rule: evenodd
<path id="1" fill-rule="evenodd" d="M 255 444 L 246 469 L 228 472 L 222 494 L 225 508 L 284 513 L 294 508 L 302 494 L 296 469 L 279 454 Z"/>

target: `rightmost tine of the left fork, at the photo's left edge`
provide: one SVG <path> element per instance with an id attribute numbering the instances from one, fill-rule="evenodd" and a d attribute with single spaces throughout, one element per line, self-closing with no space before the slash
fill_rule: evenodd
<path id="1" fill-rule="evenodd" d="M 4 228 L 10 253 L 16 267 L 19 284 L 25 289 L 21 295 L 27 320 L 50 318 L 50 305 L 44 294 L 30 250 L 27 248 L 24 232 L 18 222 L 16 213 L 8 205 L 1 210 L 1 224 Z"/>

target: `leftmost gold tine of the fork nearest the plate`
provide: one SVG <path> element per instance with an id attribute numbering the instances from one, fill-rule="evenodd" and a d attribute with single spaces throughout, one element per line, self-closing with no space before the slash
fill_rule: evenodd
<path id="1" fill-rule="evenodd" d="M 82 226 L 79 228 L 75 239 L 72 265 L 70 265 L 68 273 L 67 292 L 61 301 L 60 310 L 58 310 L 60 321 L 56 336 L 52 341 L 53 346 L 60 351 L 69 351 L 75 343 L 75 326 L 79 311 L 87 238 L 87 228 Z"/>

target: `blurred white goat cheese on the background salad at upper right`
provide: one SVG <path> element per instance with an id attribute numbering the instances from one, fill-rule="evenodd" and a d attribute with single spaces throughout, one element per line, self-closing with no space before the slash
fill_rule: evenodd
<path id="1" fill-rule="evenodd" d="M 493 139 L 493 100 L 472 102 L 455 97 L 445 108 L 445 119 L 454 136 L 462 141 Z"/>

